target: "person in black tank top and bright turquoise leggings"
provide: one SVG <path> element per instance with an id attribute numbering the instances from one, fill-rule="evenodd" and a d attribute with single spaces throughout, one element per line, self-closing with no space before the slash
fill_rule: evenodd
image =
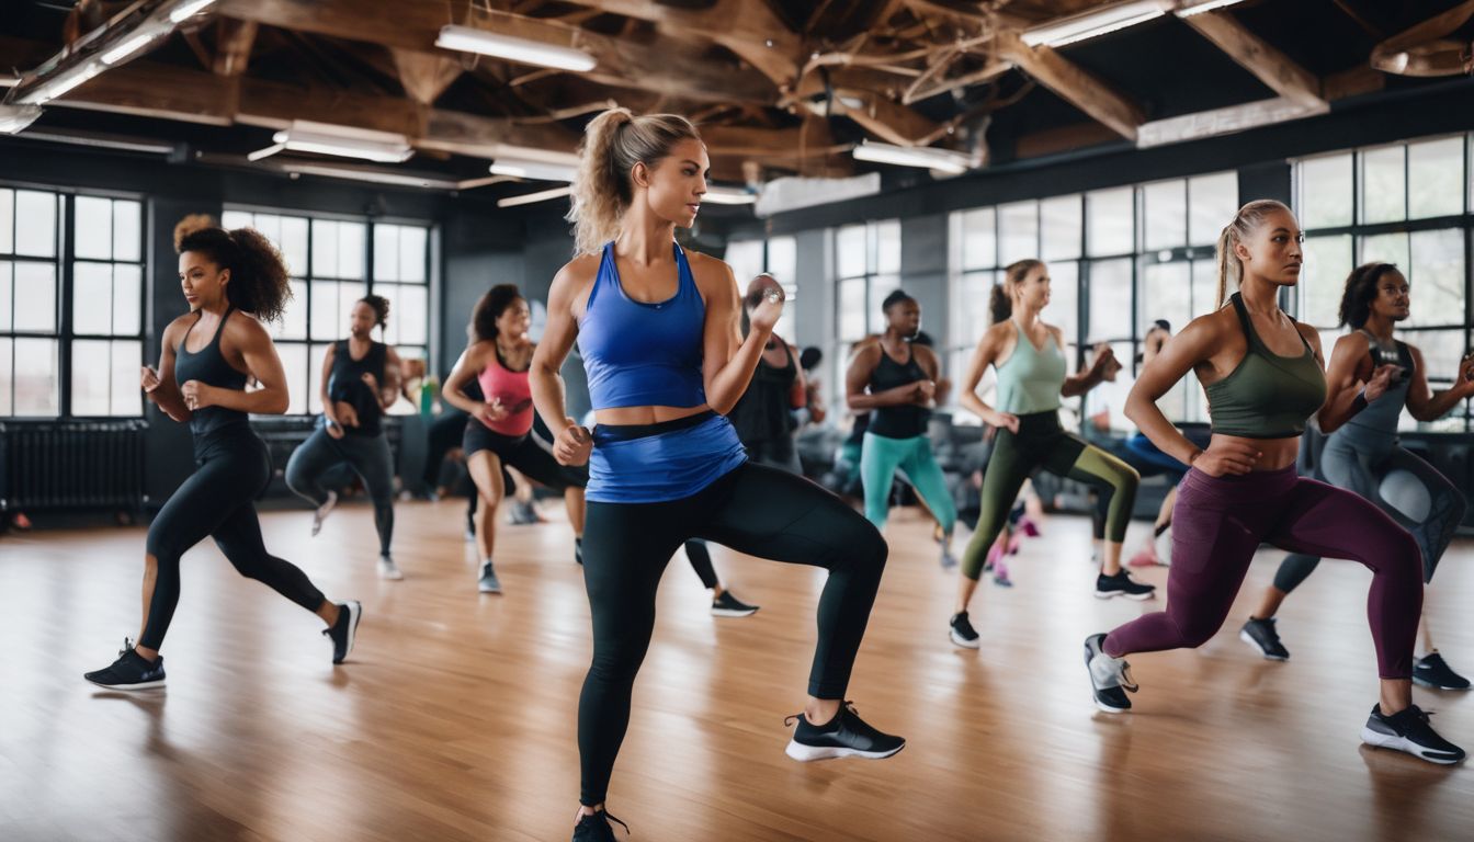
<path id="1" fill-rule="evenodd" d="M 917 299 L 896 289 L 881 302 L 880 311 L 886 316 L 886 332 L 879 342 L 855 354 L 845 375 L 849 408 L 870 411 L 859 451 L 865 519 L 877 529 L 886 528 L 890 487 L 901 470 L 942 529 L 942 566 L 954 568 L 957 504 L 927 436 L 942 364 L 932 348 L 914 342 L 921 332 Z"/>

